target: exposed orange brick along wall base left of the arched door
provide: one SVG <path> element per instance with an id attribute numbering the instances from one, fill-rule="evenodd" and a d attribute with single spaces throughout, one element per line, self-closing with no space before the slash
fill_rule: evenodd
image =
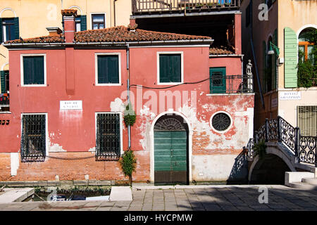
<path id="1" fill-rule="evenodd" d="M 91 152 L 77 153 L 49 153 L 50 156 L 59 158 L 85 158 L 94 156 Z M 136 151 L 137 172 L 133 174 L 135 181 L 149 180 L 149 153 Z M 6 181 L 11 176 L 10 153 L 0 154 L 0 180 Z M 83 160 L 60 160 L 46 158 L 45 162 L 20 162 L 17 176 L 10 181 L 41 181 L 55 180 L 58 175 L 60 180 L 85 180 L 85 175 L 91 180 L 127 180 L 123 175 L 119 162 L 95 161 L 95 158 Z"/>

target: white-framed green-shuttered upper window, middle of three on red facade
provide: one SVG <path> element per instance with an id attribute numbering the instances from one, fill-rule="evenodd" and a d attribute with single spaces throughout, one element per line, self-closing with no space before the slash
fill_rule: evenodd
<path id="1" fill-rule="evenodd" d="M 95 53 L 96 86 L 121 85 L 121 54 Z"/>

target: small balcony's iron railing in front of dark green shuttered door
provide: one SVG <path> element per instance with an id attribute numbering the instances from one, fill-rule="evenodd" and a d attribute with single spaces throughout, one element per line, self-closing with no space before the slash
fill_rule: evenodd
<path id="1" fill-rule="evenodd" d="M 212 75 L 211 94 L 253 93 L 253 75 Z"/>

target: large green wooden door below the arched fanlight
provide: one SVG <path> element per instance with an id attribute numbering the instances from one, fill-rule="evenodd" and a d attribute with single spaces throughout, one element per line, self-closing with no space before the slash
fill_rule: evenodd
<path id="1" fill-rule="evenodd" d="M 187 184 L 186 131 L 154 131 L 154 183 Z"/>

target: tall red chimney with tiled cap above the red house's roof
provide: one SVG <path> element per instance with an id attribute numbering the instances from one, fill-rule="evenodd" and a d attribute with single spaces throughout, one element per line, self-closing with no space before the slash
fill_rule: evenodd
<path id="1" fill-rule="evenodd" d="M 75 35 L 75 17 L 77 10 L 63 9 L 61 11 L 64 22 L 64 38 L 66 43 L 73 43 Z"/>

